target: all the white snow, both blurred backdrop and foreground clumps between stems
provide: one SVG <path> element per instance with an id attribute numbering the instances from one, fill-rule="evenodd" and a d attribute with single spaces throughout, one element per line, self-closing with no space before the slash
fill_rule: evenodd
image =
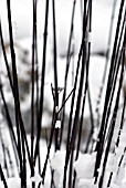
<path id="1" fill-rule="evenodd" d="M 105 67 L 105 56 L 101 56 L 99 53 L 105 54 L 107 50 L 107 40 L 108 40 L 108 31 L 111 24 L 111 15 L 112 15 L 112 7 L 113 1 L 109 0 L 95 0 L 93 1 L 93 25 L 92 32 L 87 33 L 87 40 L 92 43 L 92 55 L 90 61 L 90 90 L 91 90 L 91 100 L 93 106 L 93 114 L 96 115 L 96 107 L 97 107 L 97 96 L 99 94 L 99 88 L 102 84 L 104 67 Z M 116 20 L 118 14 L 120 0 L 117 0 L 116 6 L 116 15 L 114 20 L 114 29 L 113 29 L 113 38 L 115 35 L 115 28 L 116 28 Z M 8 34 L 8 22 L 7 22 L 7 11 L 6 11 L 6 1 L 0 0 L 0 19 L 3 29 L 3 38 L 6 44 L 9 43 L 9 34 Z M 80 50 L 80 43 L 82 38 L 82 15 L 81 15 L 81 1 L 76 1 L 75 8 L 75 20 L 74 20 L 74 31 L 73 31 L 73 40 L 72 46 L 74 48 L 74 55 L 72 55 L 72 61 L 70 65 L 69 72 L 69 81 L 67 81 L 67 93 L 66 96 L 73 88 L 73 70 L 75 74 L 76 63 L 77 63 L 77 53 Z M 71 15 L 72 15 L 72 6 L 73 0 L 56 0 L 55 1 L 55 15 L 56 15 L 56 36 L 57 36 L 57 81 L 59 86 L 64 86 L 64 75 L 65 75 L 65 65 L 66 65 L 66 53 L 67 53 L 67 44 L 69 44 L 69 35 L 70 35 L 70 23 L 71 23 Z M 31 81 L 31 58 L 32 58 L 32 1 L 31 0 L 19 0 L 19 1 L 11 1 L 12 7 L 12 27 L 13 27 L 13 36 L 14 36 L 14 48 L 15 48 L 15 58 L 17 58 L 17 66 L 18 66 L 18 79 L 19 83 L 21 81 L 29 82 L 29 86 L 31 90 L 30 81 Z M 29 11 L 28 11 L 29 8 Z M 43 31 L 44 31 L 44 13 L 45 13 L 45 1 L 39 0 L 38 1 L 38 49 L 39 49 L 39 76 L 41 79 L 41 67 L 42 67 L 42 45 L 43 45 Z M 23 12 L 23 13 L 22 13 Z M 60 15 L 60 17 L 59 17 Z M 49 114 L 53 111 L 53 97 L 51 93 L 51 83 L 54 85 L 54 75 L 53 75 L 53 33 L 52 33 L 52 3 L 50 3 L 50 14 L 49 14 L 49 29 L 48 29 L 48 50 L 46 50 L 46 71 L 45 71 L 45 86 L 44 86 L 44 112 L 43 112 L 43 119 L 42 126 L 51 125 L 51 116 Z M 9 65 L 11 67 L 11 55 L 9 48 L 6 48 Z M 27 53 L 24 53 L 24 51 Z M 73 51 L 71 51 L 73 52 Z M 3 83 L 3 91 L 6 94 L 6 100 L 8 104 L 13 105 L 12 93 L 10 92 L 9 82 L 7 77 L 7 71 L 4 66 L 3 56 L 0 51 L 0 61 L 1 61 L 1 80 Z M 74 62 L 74 63 L 73 63 Z M 74 66 L 74 69 L 73 69 Z M 109 61 L 108 61 L 109 66 Z M 108 75 L 108 70 L 107 70 Z M 28 87 L 29 87 L 28 86 Z M 125 82 L 124 82 L 125 86 Z M 99 113 L 102 114 L 104 107 L 104 96 L 105 96 L 105 88 L 106 82 L 104 84 L 103 96 L 99 104 Z M 122 92 L 123 93 L 123 92 Z M 62 102 L 62 94 L 60 93 L 60 105 Z M 35 96 L 36 97 L 36 96 Z M 122 94 L 123 100 L 123 94 Z M 122 103 L 120 100 L 120 103 Z M 71 105 L 71 97 L 66 102 L 66 115 L 70 114 L 70 105 Z M 25 92 L 24 100 L 21 102 L 21 111 L 25 114 L 31 106 L 31 97 L 30 91 Z M 90 117 L 90 109 L 88 103 L 86 101 L 84 117 Z M 120 115 L 119 115 L 120 116 Z M 0 118 L 0 123 L 3 117 Z M 28 116 L 27 116 L 28 118 Z M 27 124 L 28 125 L 28 124 Z M 55 128 L 61 128 L 61 121 L 56 121 Z M 9 148 L 11 153 L 11 157 L 13 159 L 13 174 L 15 177 L 7 178 L 6 169 L 3 169 L 8 188 L 20 188 L 20 178 L 18 176 L 18 169 L 15 165 L 15 158 L 13 154 L 13 148 L 11 145 L 10 135 L 7 128 L 7 124 L 4 121 L 0 125 L 0 129 L 2 132 L 2 139 L 4 146 Z M 117 128 L 115 130 L 115 137 L 117 137 Z M 97 140 L 98 129 L 95 127 L 93 139 Z M 29 146 L 31 144 L 31 138 L 28 135 Z M 114 139 L 115 140 L 115 139 Z M 124 188 L 126 187 L 126 156 L 125 156 L 125 143 L 126 143 L 126 132 L 120 132 L 119 137 L 119 147 L 115 148 L 115 153 L 109 153 L 105 178 L 104 178 L 104 186 L 103 188 L 107 187 L 109 174 L 113 173 L 112 184 L 109 188 Z M 115 144 L 115 143 L 114 143 Z M 51 179 L 51 169 L 54 170 L 54 182 L 56 188 L 62 188 L 63 184 L 63 171 L 64 171 L 64 164 L 65 164 L 65 149 L 57 150 L 54 153 L 54 146 L 52 145 L 50 160 L 48 165 L 46 176 L 45 176 L 45 185 L 41 187 L 49 188 Z M 40 148 L 41 149 L 41 167 L 44 165 L 45 156 L 46 156 L 46 143 L 45 140 L 40 140 Z M 2 145 L 0 142 L 0 150 L 2 150 Z M 122 156 L 124 155 L 123 163 L 120 168 L 118 168 L 118 164 L 120 161 Z M 95 166 L 96 153 L 92 154 L 82 154 L 80 153 L 77 160 L 74 161 L 74 169 L 77 175 L 77 188 L 98 188 L 97 185 L 94 185 L 94 166 Z M 0 155 L 0 164 L 3 167 L 3 155 Z M 38 185 L 42 179 L 38 170 L 35 170 L 35 175 L 30 177 L 30 167 L 28 166 L 28 188 L 31 188 L 33 181 Z M 98 173 L 101 175 L 103 167 L 101 166 Z M 4 188 L 2 181 L 0 181 L 0 188 Z"/>

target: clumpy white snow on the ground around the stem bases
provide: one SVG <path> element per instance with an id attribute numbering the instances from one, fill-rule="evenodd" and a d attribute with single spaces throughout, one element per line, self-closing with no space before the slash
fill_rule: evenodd
<path id="1" fill-rule="evenodd" d="M 13 188 L 20 188 L 20 178 L 18 176 L 14 155 L 12 153 L 13 148 L 11 145 L 10 135 L 8 133 L 6 124 L 4 124 L 4 127 L 2 128 L 4 132 L 4 134 L 2 134 L 3 143 L 6 147 L 11 152 L 11 159 L 12 159 L 12 168 L 9 169 L 9 178 L 7 178 L 7 173 L 4 170 L 4 176 L 7 178 L 8 188 L 11 188 L 12 186 Z M 29 135 L 28 135 L 28 142 L 30 146 L 31 142 L 30 142 Z M 126 142 L 126 133 L 122 132 L 119 147 L 116 148 L 114 154 L 109 154 L 108 156 L 103 188 L 107 187 L 111 173 L 113 173 L 111 188 L 116 188 L 116 187 L 124 188 L 126 186 L 126 166 L 125 166 L 126 156 L 124 155 L 125 154 L 124 152 L 125 142 Z M 43 167 L 45 155 L 46 155 L 46 142 L 44 139 L 40 140 L 40 147 L 42 148 L 41 149 L 41 167 Z M 123 155 L 124 155 L 124 158 L 122 160 Z M 94 185 L 94 178 L 93 178 L 95 158 L 96 158 L 96 153 L 92 153 L 92 154 L 80 153 L 78 159 L 74 161 L 74 169 L 76 170 L 76 174 L 77 174 L 77 180 L 76 180 L 77 188 L 91 188 L 91 187 L 98 188 L 98 185 Z M 2 157 L 0 158 L 0 164 L 2 166 L 4 164 L 4 160 Z M 45 184 L 44 186 L 41 185 L 41 187 L 44 187 L 44 188 L 50 187 L 51 169 L 53 169 L 54 170 L 54 184 L 56 188 L 62 188 L 64 164 L 65 164 L 64 147 L 62 147 L 61 150 L 57 150 L 56 153 L 54 153 L 54 148 L 52 146 L 50 161 L 49 161 L 49 166 L 48 166 L 48 170 L 45 175 Z M 120 168 L 119 168 L 119 165 L 120 165 Z M 102 170 L 102 166 L 99 168 L 99 173 L 101 170 Z M 33 181 L 35 181 L 38 185 L 41 181 L 41 177 L 36 170 L 34 177 L 31 178 L 30 169 L 28 166 L 28 173 L 27 173 L 28 188 L 31 188 L 31 185 Z M 0 181 L 0 186 L 1 188 L 4 188 L 2 181 Z"/>

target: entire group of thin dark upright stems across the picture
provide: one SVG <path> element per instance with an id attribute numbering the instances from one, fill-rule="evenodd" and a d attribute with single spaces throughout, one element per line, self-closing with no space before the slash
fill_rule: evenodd
<path id="1" fill-rule="evenodd" d="M 82 142 L 82 132 L 83 132 L 83 119 L 84 119 L 84 111 L 85 111 L 85 101 L 88 97 L 88 105 L 91 112 L 91 132 L 87 138 L 85 153 L 92 153 L 90 150 L 92 144 L 92 135 L 94 133 L 94 116 L 92 111 L 92 93 L 90 91 L 90 81 L 88 81 L 88 72 L 90 72 L 90 58 L 91 58 L 91 41 L 90 35 L 92 32 L 92 0 L 81 1 L 81 11 L 83 14 L 83 32 L 82 32 L 82 41 L 80 45 L 78 59 L 77 59 L 77 66 L 74 77 L 74 86 L 72 92 L 66 97 L 67 92 L 67 81 L 69 81 L 69 72 L 70 72 L 70 63 L 71 63 L 71 50 L 72 50 L 72 40 L 73 40 L 73 32 L 74 32 L 74 17 L 75 17 L 75 7 L 76 0 L 73 1 L 72 8 L 72 18 L 71 18 L 71 29 L 70 29 L 70 38 L 69 38 L 69 46 L 67 46 L 67 54 L 66 54 L 66 69 L 65 69 L 65 76 L 64 76 L 64 91 L 62 97 L 61 107 L 59 106 L 59 72 L 57 72 L 57 46 L 56 46 L 56 12 L 55 12 L 55 0 L 52 0 L 52 18 L 53 18 L 53 73 L 54 73 L 54 87 L 51 85 L 54 106 L 52 113 L 52 126 L 50 133 L 50 139 L 48 145 L 48 153 L 45 156 L 44 165 L 41 170 L 40 164 L 40 138 L 41 138 L 41 126 L 42 126 L 42 118 L 43 118 L 43 105 L 44 105 L 44 81 L 45 81 L 45 69 L 46 69 L 46 46 L 48 46 L 48 25 L 49 25 L 49 6 L 50 1 L 45 1 L 45 20 L 44 20 L 44 33 L 43 33 L 43 51 L 42 51 L 42 70 L 41 70 L 41 85 L 39 88 L 39 70 L 38 70 L 38 28 L 36 28 L 36 13 L 38 13 L 38 0 L 32 0 L 32 8 L 33 8 L 33 25 L 32 25 L 32 72 L 31 72 L 31 153 L 27 140 L 27 133 L 24 128 L 24 123 L 22 119 L 21 106 L 20 106 L 20 91 L 19 91 L 19 82 L 18 82 L 18 72 L 17 72 L 17 61 L 15 61 L 15 52 L 14 52 L 14 41 L 13 41 L 13 29 L 12 29 L 12 21 L 11 21 L 11 3 L 10 0 L 7 0 L 7 12 L 8 12 L 8 27 L 9 27 L 9 39 L 10 39 L 10 53 L 11 53 L 11 63 L 12 63 L 12 74 L 10 71 L 10 65 L 7 59 L 4 41 L 2 35 L 2 27 L 0 21 L 0 41 L 1 48 L 3 52 L 3 59 L 7 67 L 8 79 L 10 82 L 10 87 L 13 95 L 14 101 L 14 113 L 15 113 L 15 126 L 17 133 L 13 130 L 12 121 L 10 117 L 9 108 L 6 102 L 4 93 L 2 90 L 2 83 L 0 82 L 0 94 L 3 102 L 3 106 L 6 109 L 6 118 L 8 122 L 8 127 L 10 132 L 10 136 L 13 144 L 13 150 L 15 154 L 17 166 L 19 168 L 19 174 L 21 178 L 21 188 L 27 188 L 27 157 L 29 159 L 29 165 L 31 169 L 31 176 L 34 176 L 34 167 L 36 159 L 39 159 L 39 173 L 41 174 L 42 184 L 44 185 L 45 174 L 48 168 L 48 161 L 50 158 L 51 146 L 53 143 L 53 136 L 55 138 L 55 152 L 61 148 L 62 145 L 62 137 L 63 137 L 63 129 L 65 123 L 65 103 L 71 98 L 71 109 L 69 114 L 69 122 L 67 122 L 67 140 L 66 140 L 66 155 L 65 155 L 65 165 L 63 171 L 63 188 L 75 188 L 76 186 L 76 173 L 73 168 L 73 163 L 78 158 L 78 154 L 81 150 L 81 142 Z M 115 11 L 115 2 L 114 1 L 114 9 L 112 13 L 112 22 Z M 117 112 L 119 106 L 119 97 L 120 97 L 120 90 L 123 85 L 123 77 L 124 77 L 124 65 L 125 65 L 125 50 L 126 50 L 126 31 L 125 31 L 125 20 L 126 17 L 123 15 L 125 0 L 120 1 L 120 8 L 118 13 L 118 21 L 115 34 L 115 41 L 113 45 L 113 53 L 111 58 L 111 67 L 109 74 L 107 77 L 107 87 L 105 94 L 105 103 L 104 103 L 104 111 L 102 114 L 102 121 L 99 122 L 99 133 L 97 137 L 97 143 L 95 147 L 96 152 L 96 161 L 95 161 L 95 169 L 94 169 L 94 184 L 97 184 L 99 188 L 103 187 L 104 182 L 104 175 L 106 170 L 106 164 L 108 154 L 111 150 L 111 144 L 115 130 L 115 123 L 117 118 Z M 112 30 L 112 25 L 111 25 Z M 111 38 L 112 32 L 109 31 L 109 39 L 108 39 L 108 49 L 111 46 Z M 106 53 L 106 64 L 108 62 L 109 51 Z M 102 84 L 105 82 L 105 72 L 103 75 Z M 119 76 L 119 82 L 117 83 L 117 79 Z M 35 82 L 36 81 L 36 82 Z M 117 88 L 117 92 L 115 92 Z M 102 95 L 103 85 L 99 91 L 99 98 Z M 36 101 L 35 101 L 35 92 L 36 92 Z M 112 108 L 114 96 L 115 106 L 114 109 Z M 99 102 L 99 101 L 98 101 Z M 122 119 L 119 125 L 119 130 L 117 135 L 116 146 L 119 146 L 119 136 L 120 130 L 123 129 L 123 122 L 124 122 L 124 114 L 125 114 L 125 102 L 122 111 Z M 111 115 L 112 113 L 112 115 Z M 35 121 L 36 117 L 36 121 Z M 57 121 L 61 121 L 61 129 L 56 127 Z M 35 125 L 36 125 L 36 135 L 35 135 Z M 36 142 L 34 142 L 34 136 L 36 136 Z M 10 154 L 7 148 L 4 148 L 1 130 L 0 130 L 0 139 L 2 143 L 2 150 L 4 155 L 4 165 L 7 167 L 7 175 L 9 177 L 9 170 L 7 166 L 7 155 L 10 159 Z M 124 149 L 124 154 L 126 148 Z M 115 150 L 113 150 L 115 153 Z M 124 159 L 124 154 L 122 155 L 120 161 L 118 164 L 118 170 Z M 60 164 L 59 164 L 60 165 Z M 98 169 L 102 167 L 101 173 Z M 51 169 L 52 179 L 51 179 L 51 187 L 55 187 L 54 185 L 54 170 Z M 67 176 L 69 175 L 69 176 Z M 3 181 L 4 188 L 8 188 L 2 167 L 0 165 L 0 176 L 1 180 Z M 111 186 L 111 181 L 113 178 L 113 173 L 111 171 L 107 187 Z M 38 188 L 41 186 L 39 184 Z M 32 188 L 35 188 L 35 182 L 32 184 Z"/>

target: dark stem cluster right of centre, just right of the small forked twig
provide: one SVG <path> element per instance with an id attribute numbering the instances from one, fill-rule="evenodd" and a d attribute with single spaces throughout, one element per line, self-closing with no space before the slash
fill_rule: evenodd
<path id="1" fill-rule="evenodd" d="M 75 150 L 75 142 L 76 142 L 76 137 L 78 133 L 78 127 L 82 126 L 78 124 L 78 122 L 80 122 L 81 109 L 82 109 L 82 114 L 84 112 L 85 95 L 87 91 L 90 49 L 91 49 L 91 43 L 88 42 L 87 36 L 88 36 L 88 33 L 91 32 L 91 17 L 92 17 L 92 1 L 84 1 L 83 38 L 82 38 L 82 44 L 81 44 L 81 49 L 78 53 L 76 75 L 75 75 L 75 81 L 74 81 L 74 92 L 72 95 L 72 103 L 71 103 L 72 105 L 71 105 L 71 113 L 70 113 L 70 119 L 69 119 L 63 188 L 65 188 L 66 186 L 66 174 L 67 174 L 69 161 L 70 161 L 69 187 L 72 187 L 73 156 L 74 156 L 74 150 Z M 77 81 L 78 72 L 81 74 L 80 82 Z M 77 82 L 78 82 L 78 91 L 76 90 Z M 83 95 L 83 92 L 84 92 L 84 95 Z M 73 126 L 72 126 L 72 115 L 73 115 L 75 95 L 77 96 L 77 100 L 76 100 L 75 115 L 74 115 Z M 83 101 L 82 101 L 82 96 L 84 96 Z M 82 106 L 82 103 L 83 103 L 83 106 Z M 81 137 L 78 138 L 78 142 L 80 139 Z M 78 148 L 80 147 L 77 147 L 77 149 Z M 78 150 L 77 150 L 76 157 L 77 155 L 78 155 Z M 73 187 L 74 187 L 74 184 L 75 184 L 75 177 L 73 180 Z"/>

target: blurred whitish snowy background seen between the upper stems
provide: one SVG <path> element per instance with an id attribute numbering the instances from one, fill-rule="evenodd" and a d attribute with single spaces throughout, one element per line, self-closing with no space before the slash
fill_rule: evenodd
<path id="1" fill-rule="evenodd" d="M 71 29 L 71 18 L 73 0 L 55 0 L 55 21 L 56 21 L 56 48 L 57 48 L 57 81 L 59 86 L 64 86 L 64 75 L 66 65 L 66 55 Z M 120 0 L 93 0 L 92 11 L 92 32 L 88 34 L 87 40 L 91 41 L 91 64 L 90 64 L 90 88 L 91 100 L 93 106 L 94 118 L 96 115 L 97 97 L 102 84 L 106 54 L 113 46 L 113 41 L 116 31 L 117 15 L 119 11 Z M 70 66 L 67 94 L 73 88 L 73 77 L 75 74 L 77 54 L 82 40 L 82 20 L 83 20 L 83 1 L 76 0 L 75 15 L 74 15 L 74 30 L 72 39 L 72 63 Z M 27 132 L 31 128 L 31 60 L 32 60 L 32 0 L 11 0 L 12 13 L 12 29 L 14 39 L 14 50 L 18 67 L 18 80 L 20 88 L 21 109 L 24 119 Z M 44 18 L 45 17 L 45 0 L 38 0 L 36 8 L 36 30 L 38 30 L 38 70 L 41 80 L 42 67 L 42 51 L 43 51 L 43 32 L 44 32 Z M 0 19 L 2 25 L 3 40 L 8 61 L 11 67 L 11 55 L 9 49 L 9 32 L 8 32 L 8 15 L 7 4 L 4 0 L 0 0 Z M 53 97 L 51 92 L 51 83 L 54 84 L 53 77 L 53 19 L 52 19 L 52 1 L 50 0 L 49 8 L 49 25 L 48 25 L 48 49 L 46 49 L 46 67 L 45 67 L 45 83 L 44 83 L 44 109 L 43 109 L 43 127 L 51 126 L 51 116 L 53 111 Z M 111 44 L 109 44 L 111 33 Z M 111 56 L 111 51 L 109 51 Z M 109 58 L 108 56 L 108 58 Z M 14 124 L 13 100 L 10 90 L 4 60 L 0 48 L 0 72 L 1 81 L 6 100 L 10 109 L 12 122 Z M 36 97 L 36 96 L 35 96 Z M 62 92 L 60 100 L 62 98 Z M 70 113 L 71 98 L 66 103 L 66 118 Z M 102 108 L 101 104 L 101 109 Z M 2 109 L 3 111 L 3 109 Z M 86 109 L 84 112 L 84 134 L 90 129 L 90 107 L 86 101 Z M 3 112 L 4 114 L 4 112 Z M 65 140 L 64 134 L 64 140 Z"/>

